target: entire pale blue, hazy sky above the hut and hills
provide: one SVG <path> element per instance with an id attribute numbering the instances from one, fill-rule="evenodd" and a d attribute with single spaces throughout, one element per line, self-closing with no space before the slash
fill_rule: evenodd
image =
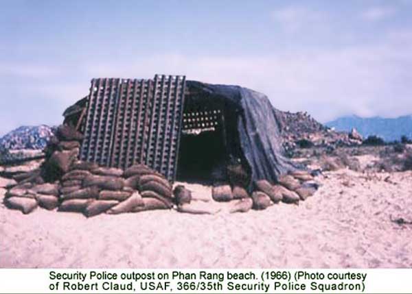
<path id="1" fill-rule="evenodd" d="M 326 122 L 412 114 L 412 0 L 0 0 L 0 136 L 93 77 L 186 75 Z"/>

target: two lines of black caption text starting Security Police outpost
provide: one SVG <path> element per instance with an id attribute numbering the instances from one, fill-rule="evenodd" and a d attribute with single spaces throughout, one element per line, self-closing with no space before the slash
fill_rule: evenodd
<path id="1" fill-rule="evenodd" d="M 130 293 L 197 293 L 253 292 L 277 293 L 284 291 L 365 291 L 367 273 L 310 273 L 308 271 L 160 271 L 117 273 L 89 271 L 65 273 L 50 271 L 51 291 L 130 291 Z"/>

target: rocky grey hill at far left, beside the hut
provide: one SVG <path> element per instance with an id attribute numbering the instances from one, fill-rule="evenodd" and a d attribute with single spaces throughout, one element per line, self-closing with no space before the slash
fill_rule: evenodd
<path id="1" fill-rule="evenodd" d="M 43 149 L 54 134 L 47 125 L 22 126 L 0 138 L 1 149 Z"/>

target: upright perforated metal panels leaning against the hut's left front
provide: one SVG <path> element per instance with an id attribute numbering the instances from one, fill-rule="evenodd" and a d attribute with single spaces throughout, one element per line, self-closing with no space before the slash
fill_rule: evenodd
<path id="1" fill-rule="evenodd" d="M 143 163 L 176 175 L 185 77 L 93 79 L 80 159 L 106 167 Z"/>

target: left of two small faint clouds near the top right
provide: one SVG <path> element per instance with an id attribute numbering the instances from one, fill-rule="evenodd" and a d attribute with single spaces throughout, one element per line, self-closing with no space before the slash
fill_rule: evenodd
<path id="1" fill-rule="evenodd" d="M 304 6 L 287 6 L 271 12 L 272 19 L 286 32 L 298 32 L 308 25 L 319 23 L 325 18 L 321 12 L 310 10 Z"/>

